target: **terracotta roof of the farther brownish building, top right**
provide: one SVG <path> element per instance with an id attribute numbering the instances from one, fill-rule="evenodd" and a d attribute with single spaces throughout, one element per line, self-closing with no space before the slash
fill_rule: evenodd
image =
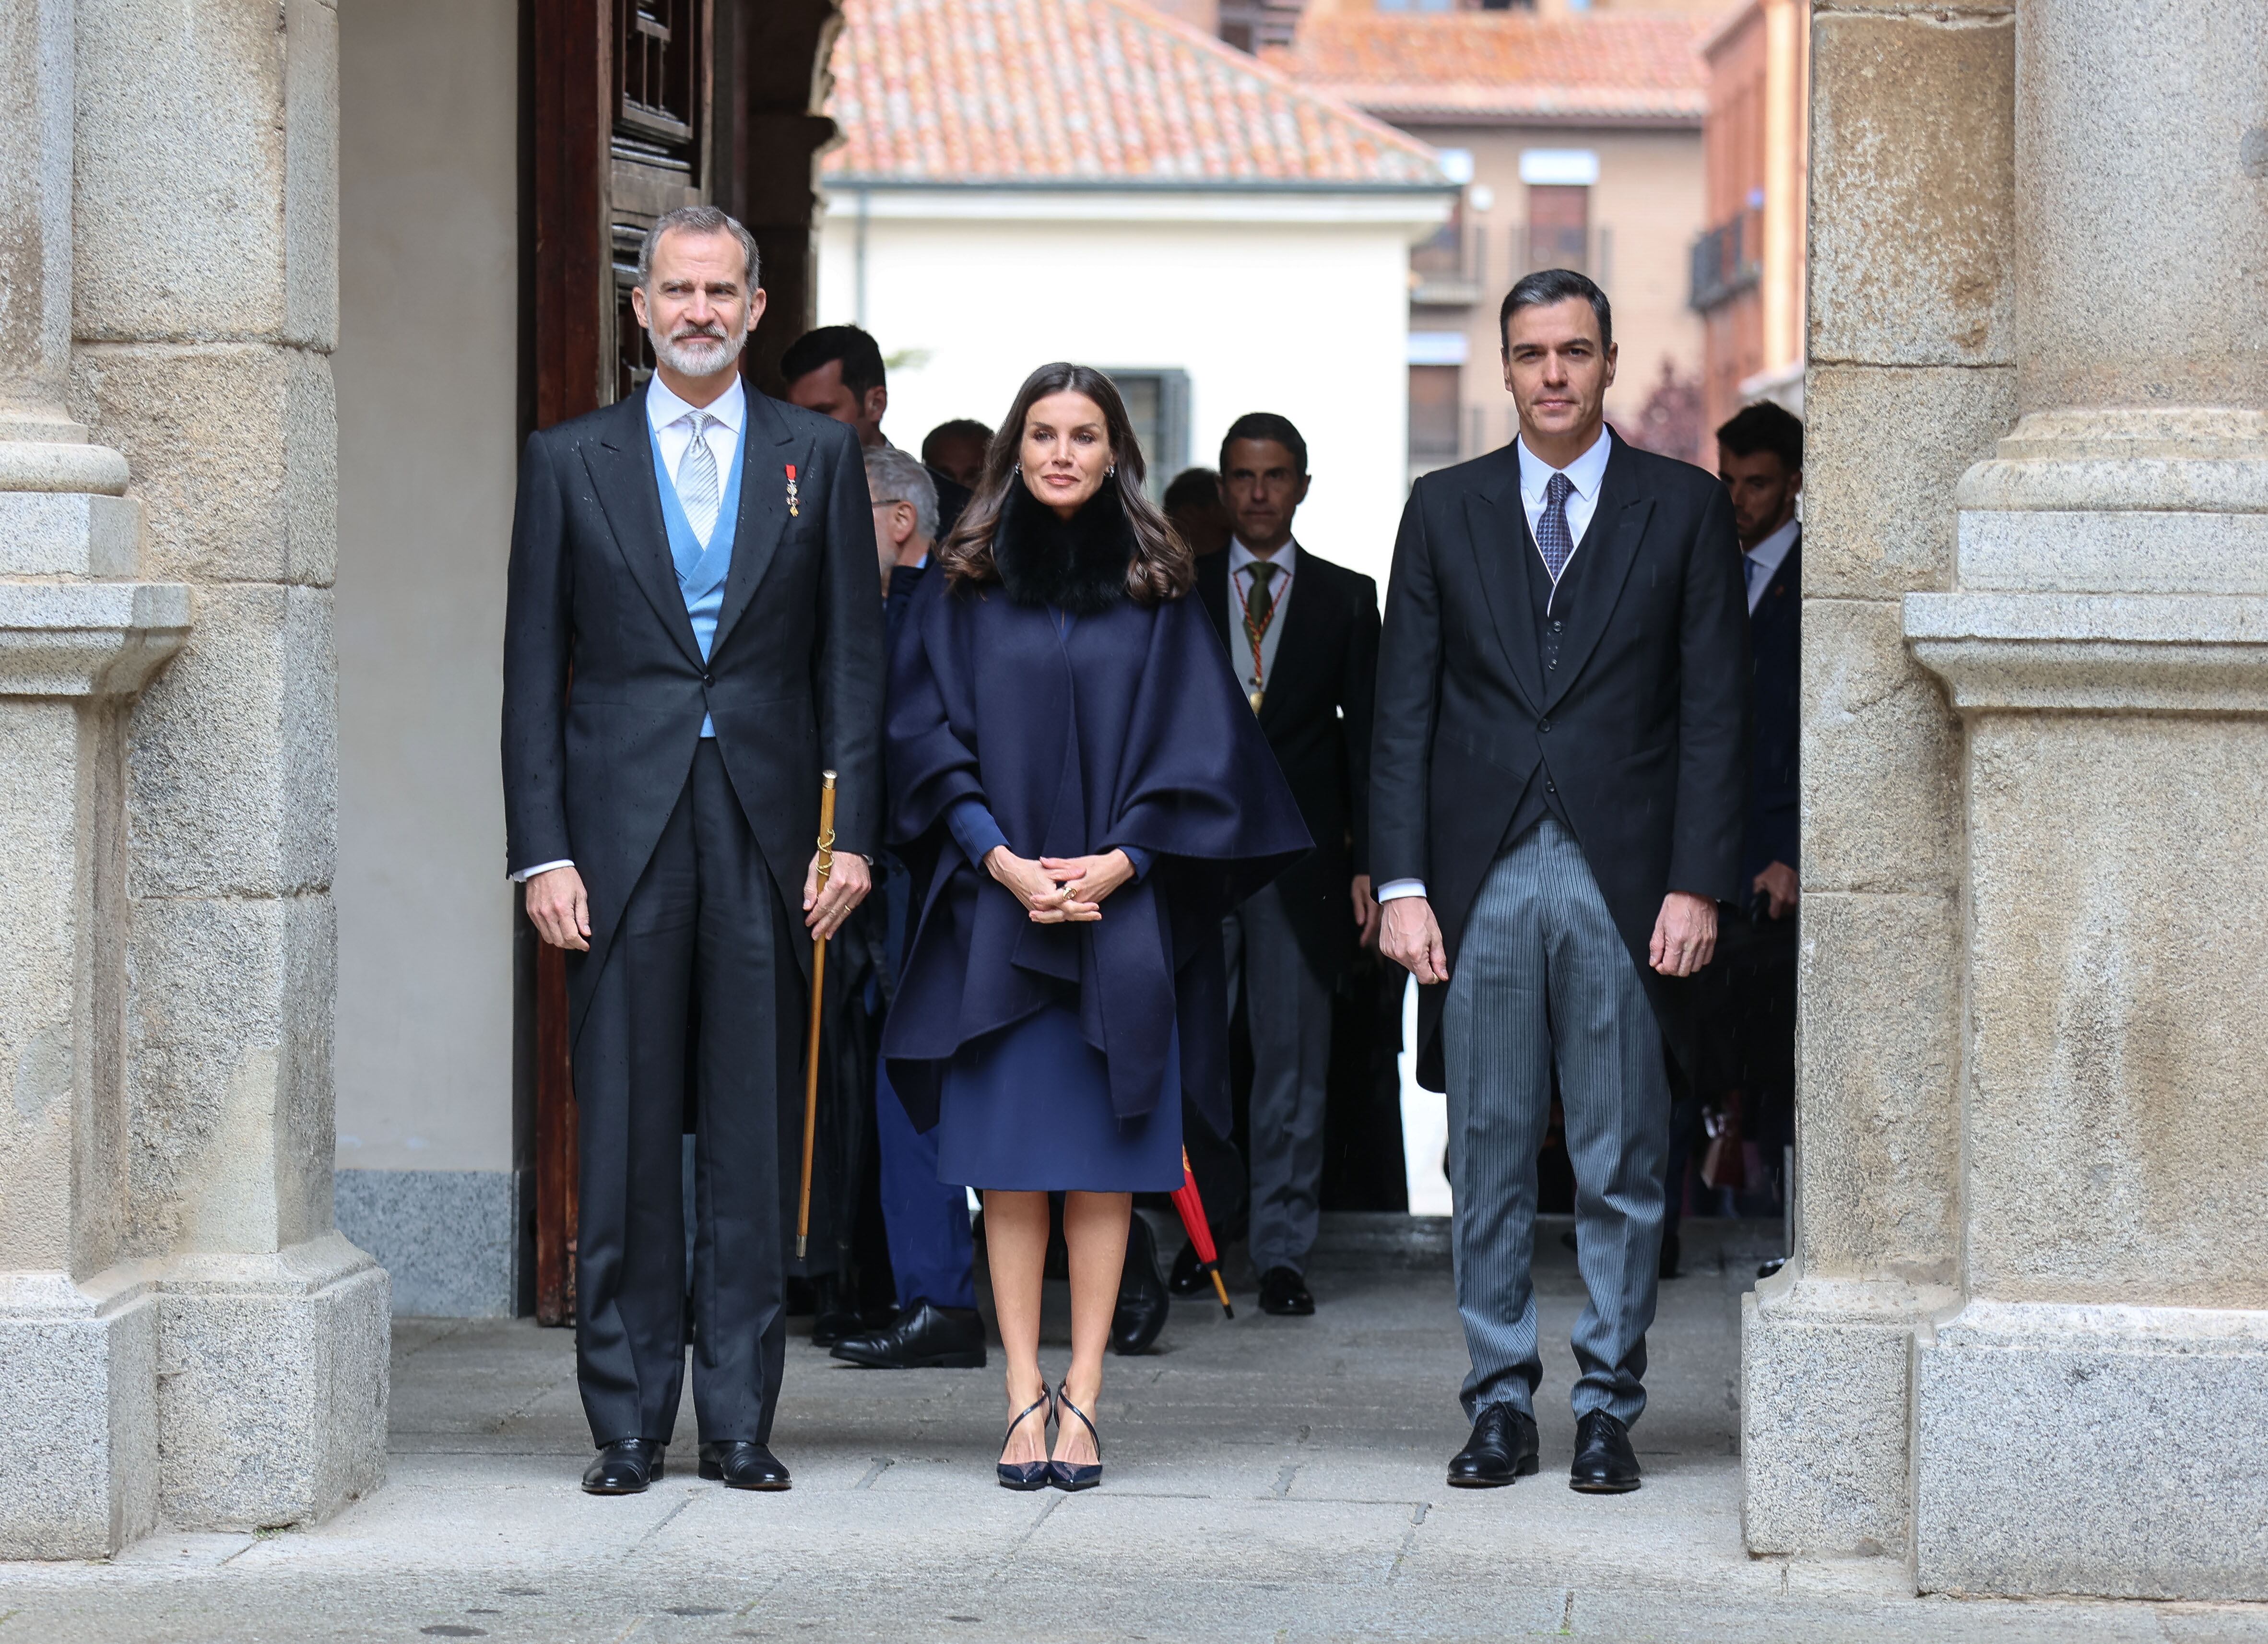
<path id="1" fill-rule="evenodd" d="M 1676 120 L 1708 111 L 1715 16 L 1309 16 L 1263 61 L 1388 118 Z"/>

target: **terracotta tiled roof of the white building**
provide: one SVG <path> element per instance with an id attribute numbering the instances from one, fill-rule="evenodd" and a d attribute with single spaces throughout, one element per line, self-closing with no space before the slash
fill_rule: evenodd
<path id="1" fill-rule="evenodd" d="M 826 177 L 1440 184 L 1411 136 L 1141 0 L 846 0 Z"/>

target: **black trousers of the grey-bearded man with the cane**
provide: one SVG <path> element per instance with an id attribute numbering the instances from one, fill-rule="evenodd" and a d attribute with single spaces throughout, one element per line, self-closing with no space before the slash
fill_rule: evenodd
<path id="1" fill-rule="evenodd" d="M 801 1168 L 805 977 L 723 757 L 692 776 L 574 1041 L 576 1379 L 592 1440 L 667 1442 L 685 1376 L 683 1134 L 694 1132 L 701 1442 L 771 1438 L 787 1351 L 782 1204 Z"/>

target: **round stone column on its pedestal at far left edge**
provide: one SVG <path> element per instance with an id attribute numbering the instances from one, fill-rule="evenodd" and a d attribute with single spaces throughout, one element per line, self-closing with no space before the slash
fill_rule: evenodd
<path id="1" fill-rule="evenodd" d="M 127 1204 L 120 705 L 188 590 L 132 581 L 125 458 L 66 410 L 68 0 L 0 2 L 0 1558 L 156 1510 L 159 1306 Z"/>

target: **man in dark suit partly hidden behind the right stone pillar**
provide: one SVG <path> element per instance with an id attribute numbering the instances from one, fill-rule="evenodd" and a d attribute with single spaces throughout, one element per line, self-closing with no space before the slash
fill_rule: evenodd
<path id="1" fill-rule="evenodd" d="M 1740 848 L 1742 902 L 1724 921 L 1717 957 L 1694 977 L 1699 1057 L 1683 1079 L 1669 1147 L 1662 1277 L 1678 1259 L 1678 1200 L 1703 1104 L 1737 1116 L 1778 1175 L 1796 1102 L 1796 753 L 1803 739 L 1803 424 L 1760 401 L 1717 429 L 1717 478 L 1733 499 L 1749 592 L 1755 753 Z M 1769 1184 L 1751 1184 L 1767 1186 Z M 1780 1184 L 1785 1190 L 1785 1184 Z"/>

